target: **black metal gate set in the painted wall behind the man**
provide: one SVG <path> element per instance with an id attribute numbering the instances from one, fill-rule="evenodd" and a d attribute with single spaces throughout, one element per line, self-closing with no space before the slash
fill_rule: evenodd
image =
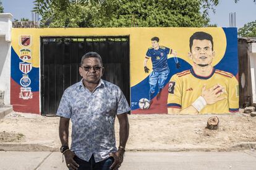
<path id="1" fill-rule="evenodd" d="M 64 90 L 82 79 L 82 55 L 98 52 L 103 79 L 119 86 L 130 102 L 129 37 L 41 37 L 41 115 L 55 115 Z"/>

